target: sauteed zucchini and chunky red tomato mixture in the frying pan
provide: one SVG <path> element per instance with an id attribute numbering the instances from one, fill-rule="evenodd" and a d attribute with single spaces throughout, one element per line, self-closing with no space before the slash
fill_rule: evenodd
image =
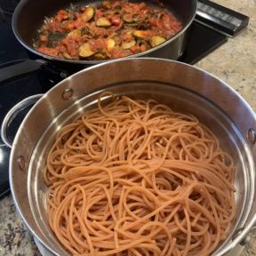
<path id="1" fill-rule="evenodd" d="M 105 60 L 144 52 L 163 44 L 182 28 L 164 6 L 102 1 L 74 6 L 45 18 L 34 47 L 69 60 Z"/>

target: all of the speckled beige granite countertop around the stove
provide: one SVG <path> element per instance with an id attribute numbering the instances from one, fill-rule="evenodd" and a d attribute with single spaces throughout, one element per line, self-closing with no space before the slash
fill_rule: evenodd
<path id="1" fill-rule="evenodd" d="M 196 67 L 227 82 L 256 112 L 256 0 L 214 2 L 249 16 L 250 24 L 236 38 L 229 38 L 228 43 L 197 62 Z M 15 210 L 12 196 L 0 201 L 0 255 L 40 255 Z M 256 231 L 242 252 L 242 256 L 245 255 L 256 255 Z"/>

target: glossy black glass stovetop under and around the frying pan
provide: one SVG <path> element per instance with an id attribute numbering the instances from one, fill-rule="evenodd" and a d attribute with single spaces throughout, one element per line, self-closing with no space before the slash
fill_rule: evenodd
<path id="1" fill-rule="evenodd" d="M 35 56 L 29 53 L 12 33 L 12 12 L 18 2 L 19 0 L 0 0 L 0 80 L 2 75 L 10 76 L 4 72 L 4 68 L 7 66 L 19 64 L 20 61 L 24 60 L 29 65 L 29 60 L 35 59 Z M 212 25 L 209 26 L 207 22 L 204 22 L 205 20 L 202 21 L 197 16 L 198 19 L 194 20 L 189 28 L 188 47 L 180 57 L 180 61 L 192 65 L 228 41 L 228 36 L 223 34 L 220 28 L 219 31 L 210 28 Z M 38 67 L 40 68 L 35 70 L 31 68 L 31 72 L 27 76 L 20 76 L 13 80 L 11 74 L 10 79 L 4 83 L 0 81 L 0 124 L 3 123 L 8 110 L 20 100 L 30 95 L 47 92 L 54 84 L 78 71 L 68 67 L 56 68 L 54 64 L 44 62 L 44 60 L 39 61 Z M 16 116 L 15 122 L 10 124 L 8 132 L 10 140 L 13 140 L 25 115 L 26 111 L 23 111 L 19 116 Z M 4 145 L 4 141 L 0 137 L 0 198 L 7 195 L 10 190 L 8 180 L 10 151 L 10 148 Z"/>

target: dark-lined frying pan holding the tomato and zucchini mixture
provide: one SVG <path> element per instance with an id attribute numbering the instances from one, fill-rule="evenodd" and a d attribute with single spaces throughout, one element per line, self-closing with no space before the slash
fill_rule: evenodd
<path id="1" fill-rule="evenodd" d="M 60 9 L 65 9 L 70 4 L 97 4 L 98 0 L 21 0 L 17 5 L 12 16 L 12 29 L 14 35 L 28 51 L 35 53 L 37 56 L 47 60 L 56 60 L 58 62 L 76 63 L 83 65 L 92 65 L 106 60 L 65 60 L 52 57 L 41 52 L 37 52 L 33 48 L 33 40 L 37 36 L 37 30 L 42 27 L 44 18 L 51 17 Z M 132 0 L 134 3 L 141 3 L 140 0 Z M 156 5 L 156 0 L 148 0 L 147 3 Z M 130 57 L 150 56 L 164 59 L 178 60 L 182 54 L 186 44 L 185 33 L 194 20 L 196 15 L 196 0 L 161 0 L 164 7 L 171 11 L 181 22 L 183 28 L 180 32 L 164 44 L 157 45 L 146 52 L 132 54 Z M 128 58 L 130 58 L 128 57 Z M 108 61 L 108 60 L 107 60 Z"/>

